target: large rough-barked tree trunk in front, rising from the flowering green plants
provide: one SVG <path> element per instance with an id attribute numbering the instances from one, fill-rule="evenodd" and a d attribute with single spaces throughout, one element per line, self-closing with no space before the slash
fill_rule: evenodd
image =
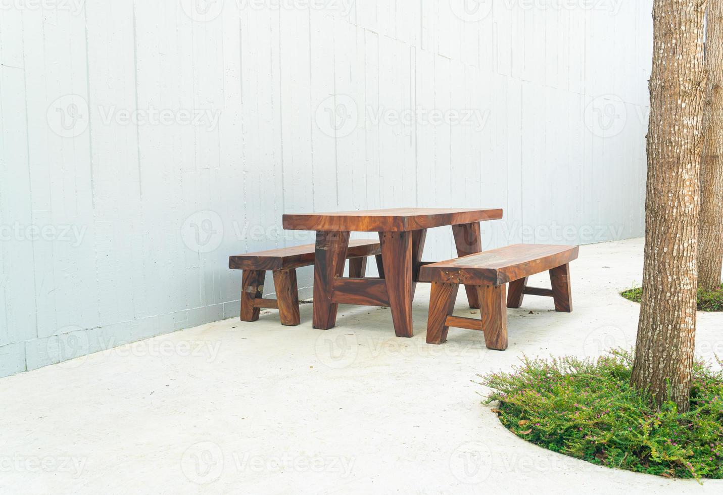
<path id="1" fill-rule="evenodd" d="M 698 287 L 705 0 L 655 0 L 643 299 L 633 387 L 690 409 Z M 668 387 L 669 386 L 669 387 Z"/>

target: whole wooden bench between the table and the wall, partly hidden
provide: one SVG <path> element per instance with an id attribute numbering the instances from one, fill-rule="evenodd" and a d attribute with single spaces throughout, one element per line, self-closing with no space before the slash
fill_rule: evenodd
<path id="1" fill-rule="evenodd" d="M 257 253 L 239 254 L 228 258 L 231 270 L 243 270 L 241 275 L 241 320 L 255 322 L 261 308 L 278 309 L 281 324 L 298 325 L 299 289 L 296 287 L 296 268 L 314 264 L 315 244 L 270 249 Z M 346 259 L 349 275 L 363 278 L 367 271 L 367 257 L 377 257 L 380 276 L 384 276 L 380 243 L 378 241 L 349 241 Z M 264 299 L 264 279 L 267 270 L 273 271 L 275 299 Z"/>

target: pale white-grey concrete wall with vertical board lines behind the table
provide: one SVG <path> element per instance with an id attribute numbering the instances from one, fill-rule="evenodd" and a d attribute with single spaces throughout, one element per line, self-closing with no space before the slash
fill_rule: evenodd
<path id="1" fill-rule="evenodd" d="M 651 0 L 450 1 L 0 0 L 0 376 L 236 316 L 283 212 L 640 236 Z"/>

